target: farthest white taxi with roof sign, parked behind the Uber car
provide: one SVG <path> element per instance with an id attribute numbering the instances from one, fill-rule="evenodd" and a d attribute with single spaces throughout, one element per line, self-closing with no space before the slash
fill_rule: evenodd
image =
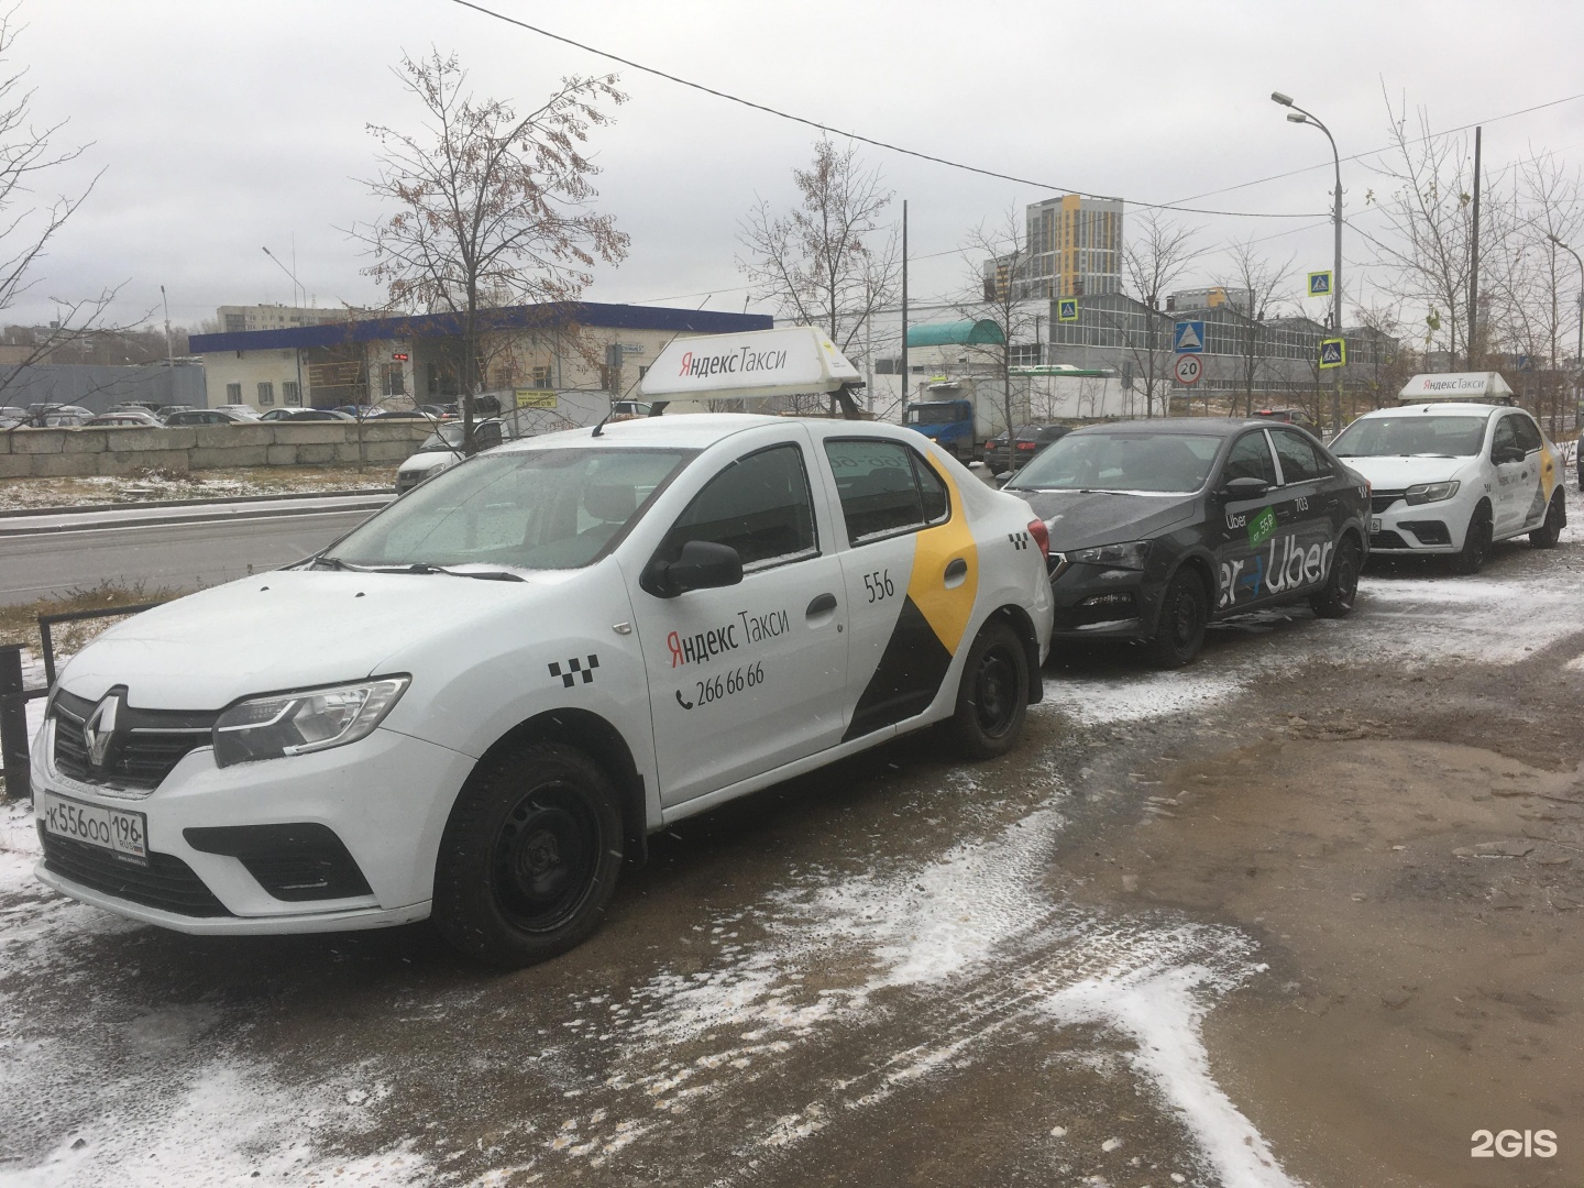
<path id="1" fill-rule="evenodd" d="M 1492 542 L 1527 532 L 1535 548 L 1551 548 L 1567 527 L 1562 451 L 1533 417 L 1478 398 L 1415 402 L 1418 382 L 1476 379 L 1486 380 L 1415 377 L 1402 407 L 1364 413 L 1331 444 L 1370 480 L 1372 556 L 1441 553 L 1460 573 L 1478 573 Z"/>

